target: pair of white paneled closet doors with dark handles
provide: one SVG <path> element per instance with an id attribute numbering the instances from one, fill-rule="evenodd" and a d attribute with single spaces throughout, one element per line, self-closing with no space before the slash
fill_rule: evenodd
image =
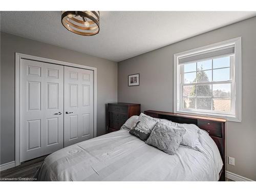
<path id="1" fill-rule="evenodd" d="M 22 59 L 20 162 L 93 138 L 93 71 Z"/>

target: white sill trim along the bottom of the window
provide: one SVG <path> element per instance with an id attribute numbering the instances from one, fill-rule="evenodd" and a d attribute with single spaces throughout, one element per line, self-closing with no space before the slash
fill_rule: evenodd
<path id="1" fill-rule="evenodd" d="M 221 114 L 210 114 L 210 113 L 200 113 L 200 112 L 191 112 L 191 111 L 175 111 L 174 113 L 181 113 L 181 114 L 187 114 L 187 115 L 198 115 L 198 116 L 204 116 L 204 117 L 215 117 L 215 118 L 223 118 L 227 121 L 233 121 L 233 122 L 242 122 L 242 120 L 236 116 L 232 115 L 221 115 Z"/>

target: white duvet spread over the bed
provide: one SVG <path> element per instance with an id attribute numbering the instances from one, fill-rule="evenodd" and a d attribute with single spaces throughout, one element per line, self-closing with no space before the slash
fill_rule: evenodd
<path id="1" fill-rule="evenodd" d="M 168 155 L 120 130 L 49 155 L 38 171 L 44 181 L 218 181 L 222 160 L 202 131 L 204 153 L 182 145 Z"/>

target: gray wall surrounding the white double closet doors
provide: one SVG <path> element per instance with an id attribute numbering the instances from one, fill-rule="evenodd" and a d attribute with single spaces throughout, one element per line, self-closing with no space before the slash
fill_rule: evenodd
<path id="1" fill-rule="evenodd" d="M 97 51 L 97 50 L 95 50 Z M 1 33 L 1 159 L 15 160 L 15 52 L 97 68 L 97 135 L 106 133 L 105 104 L 117 101 L 117 63 L 43 42 Z"/>

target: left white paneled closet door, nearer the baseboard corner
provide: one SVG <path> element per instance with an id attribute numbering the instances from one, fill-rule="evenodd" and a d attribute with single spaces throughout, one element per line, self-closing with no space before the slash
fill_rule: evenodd
<path id="1" fill-rule="evenodd" d="M 20 162 L 63 147 L 63 66 L 22 59 Z"/>

